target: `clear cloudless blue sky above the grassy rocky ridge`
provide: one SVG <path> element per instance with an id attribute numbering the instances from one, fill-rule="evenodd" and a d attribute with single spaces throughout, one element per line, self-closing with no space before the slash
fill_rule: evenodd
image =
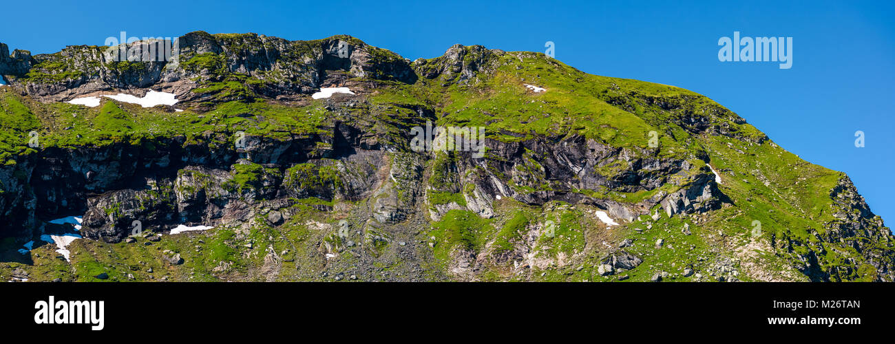
<path id="1" fill-rule="evenodd" d="M 105 4 L 103 4 L 105 3 Z M 703 4 L 705 3 L 705 4 Z M 712 4 L 717 3 L 717 4 Z M 805 160 L 847 172 L 895 224 L 895 5 L 878 2 L 7 2 L 0 42 L 34 54 L 192 30 L 287 39 L 349 34 L 407 58 L 455 43 L 544 51 L 582 71 L 709 96 Z M 720 63 L 718 39 L 793 38 L 793 65 Z M 865 132 L 865 147 L 854 145 Z"/>

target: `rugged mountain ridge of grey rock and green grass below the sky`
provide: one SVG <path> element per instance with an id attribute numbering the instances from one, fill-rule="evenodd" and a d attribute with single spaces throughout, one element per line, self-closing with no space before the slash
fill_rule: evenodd
<path id="1" fill-rule="evenodd" d="M 895 238 L 848 177 L 680 88 L 482 46 L 410 62 L 347 36 L 193 32 L 176 48 L 171 61 L 118 62 L 106 47 L 31 56 L 0 45 L 0 276 L 895 277 Z M 353 94 L 311 97 L 328 87 Z M 62 103 L 150 89 L 184 111 Z M 484 155 L 414 150 L 427 122 L 483 128 Z M 15 252 L 70 231 L 47 222 L 67 215 L 82 216 L 85 238 L 71 262 L 52 244 Z M 214 229 L 171 234 L 199 225 Z"/>

